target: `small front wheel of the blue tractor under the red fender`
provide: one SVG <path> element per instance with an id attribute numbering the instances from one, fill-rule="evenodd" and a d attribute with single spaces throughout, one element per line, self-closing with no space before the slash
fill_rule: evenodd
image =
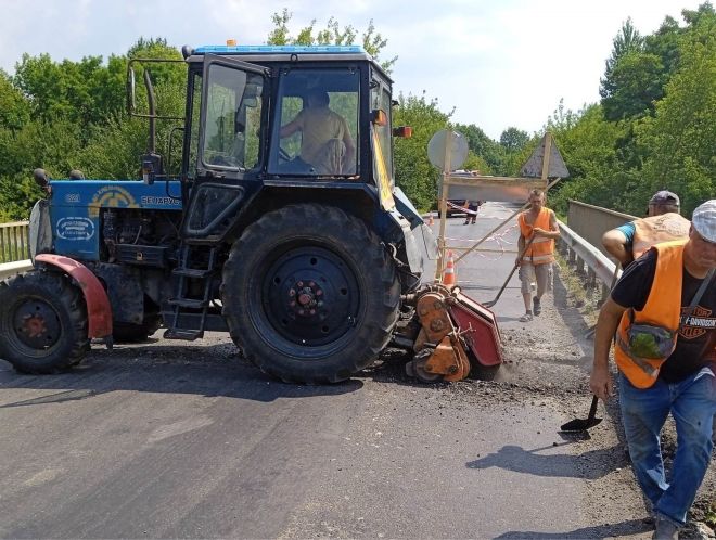
<path id="1" fill-rule="evenodd" d="M 0 358 L 22 373 L 54 373 L 90 349 L 81 291 L 54 272 L 0 283 Z"/>

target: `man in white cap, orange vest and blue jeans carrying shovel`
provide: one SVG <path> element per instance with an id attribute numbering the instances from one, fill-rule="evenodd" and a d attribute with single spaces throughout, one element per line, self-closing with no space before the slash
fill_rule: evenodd
<path id="1" fill-rule="evenodd" d="M 678 538 L 708 467 L 716 413 L 716 200 L 693 211 L 688 240 L 656 244 L 632 262 L 604 303 L 590 387 L 619 406 L 635 475 L 656 517 L 653 538 Z M 677 451 L 666 481 L 660 433 L 672 413 Z"/>

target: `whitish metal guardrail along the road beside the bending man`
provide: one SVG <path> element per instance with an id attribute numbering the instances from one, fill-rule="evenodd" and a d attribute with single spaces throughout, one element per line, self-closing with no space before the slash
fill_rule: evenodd
<path id="1" fill-rule="evenodd" d="M 587 277 L 587 285 L 596 286 L 597 280 L 599 280 L 602 285 L 602 299 L 606 298 L 614 281 L 615 272 L 616 278 L 618 278 L 622 270 L 609 257 L 566 224 L 561 221 L 559 224 L 561 234 L 558 241 L 558 248 L 560 253 L 566 257 L 571 266 L 576 266 L 577 273 Z"/>

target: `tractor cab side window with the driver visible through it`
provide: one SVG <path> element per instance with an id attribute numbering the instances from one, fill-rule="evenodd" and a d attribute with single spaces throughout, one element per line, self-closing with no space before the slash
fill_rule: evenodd
<path id="1" fill-rule="evenodd" d="M 354 68 L 282 69 L 269 173 L 356 175 L 359 83 Z"/>

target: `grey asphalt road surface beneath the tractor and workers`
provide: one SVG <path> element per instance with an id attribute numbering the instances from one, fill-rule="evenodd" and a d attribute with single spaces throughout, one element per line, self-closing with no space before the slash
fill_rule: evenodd
<path id="1" fill-rule="evenodd" d="M 477 240 L 511 211 L 485 205 L 448 236 Z M 458 265 L 469 295 L 495 296 L 515 235 Z M 0 537 L 647 538 L 610 411 L 591 439 L 557 433 L 589 404 L 557 296 L 519 323 L 513 278 L 493 383 L 421 385 L 386 353 L 344 384 L 285 385 L 221 334 L 93 346 L 52 376 L 0 361 Z"/>

